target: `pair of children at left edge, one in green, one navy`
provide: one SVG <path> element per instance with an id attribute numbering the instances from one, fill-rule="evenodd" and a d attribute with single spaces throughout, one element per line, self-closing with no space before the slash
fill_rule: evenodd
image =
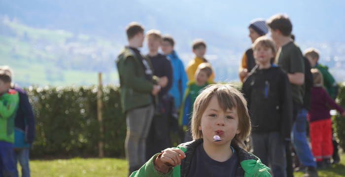
<path id="1" fill-rule="evenodd" d="M 11 85 L 12 72 L 0 66 L 0 177 L 30 177 L 29 151 L 35 135 L 35 119 L 26 92 Z"/>

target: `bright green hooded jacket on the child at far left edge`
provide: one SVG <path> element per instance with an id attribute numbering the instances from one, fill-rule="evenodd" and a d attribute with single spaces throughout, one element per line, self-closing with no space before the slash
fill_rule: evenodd
<path id="1" fill-rule="evenodd" d="M 19 104 L 19 94 L 9 89 L 0 96 L 0 141 L 14 142 L 14 119 Z"/>

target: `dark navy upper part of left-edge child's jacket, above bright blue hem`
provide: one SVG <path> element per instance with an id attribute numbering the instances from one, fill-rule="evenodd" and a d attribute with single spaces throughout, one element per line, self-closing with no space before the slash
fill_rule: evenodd
<path id="1" fill-rule="evenodd" d="M 14 89 L 19 93 L 19 108 L 15 119 L 15 127 L 26 132 L 26 139 L 28 143 L 32 144 L 35 138 L 34 112 L 26 91 L 19 87 Z"/>

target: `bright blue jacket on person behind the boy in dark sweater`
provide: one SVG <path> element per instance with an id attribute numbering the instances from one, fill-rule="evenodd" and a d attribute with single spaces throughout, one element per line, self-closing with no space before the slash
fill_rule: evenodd
<path id="1" fill-rule="evenodd" d="M 187 74 L 181 59 L 175 51 L 167 55 L 167 59 L 170 60 L 173 66 L 173 86 L 169 90 L 169 93 L 173 95 L 175 109 L 178 110 L 181 105 L 183 93 L 187 87 Z"/>

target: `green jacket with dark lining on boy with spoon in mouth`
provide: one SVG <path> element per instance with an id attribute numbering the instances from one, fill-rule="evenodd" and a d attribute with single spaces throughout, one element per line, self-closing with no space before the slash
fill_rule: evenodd
<path id="1" fill-rule="evenodd" d="M 186 157 L 182 159 L 181 165 L 173 167 L 173 170 L 170 170 L 168 174 L 162 174 L 154 168 L 153 160 L 159 155 L 156 154 L 138 171 L 133 172 L 130 177 L 186 177 L 190 169 L 189 164 L 192 161 L 194 152 L 197 146 L 202 143 L 203 139 L 198 139 L 177 146 L 177 148 L 185 152 Z M 234 143 L 231 146 L 235 148 L 239 159 L 235 177 L 271 177 L 269 173 L 270 168 L 262 164 L 259 158 Z"/>

